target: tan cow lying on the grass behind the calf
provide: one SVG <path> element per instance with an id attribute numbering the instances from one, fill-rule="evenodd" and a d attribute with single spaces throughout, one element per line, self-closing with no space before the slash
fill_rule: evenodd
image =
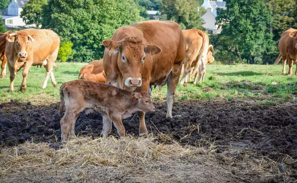
<path id="1" fill-rule="evenodd" d="M 80 69 L 78 79 L 85 79 L 94 82 L 105 82 L 105 72 L 103 68 L 103 59 L 93 60 L 88 65 Z"/>

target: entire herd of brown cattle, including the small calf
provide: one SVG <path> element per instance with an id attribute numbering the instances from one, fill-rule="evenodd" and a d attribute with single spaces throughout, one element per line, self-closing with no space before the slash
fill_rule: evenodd
<path id="1" fill-rule="evenodd" d="M 286 59 L 289 74 L 297 60 L 297 30 L 289 29 L 279 42 L 285 73 Z M 295 37 L 292 38 L 292 37 Z M 6 60 L 10 71 L 10 87 L 13 91 L 15 73 L 23 69 L 20 90 L 26 90 L 26 76 L 30 67 L 45 67 L 45 88 L 49 77 L 56 87 L 53 66 L 59 51 L 60 38 L 49 29 L 25 29 L 0 34 L 1 77 L 5 76 Z M 154 111 L 150 94 L 156 86 L 161 90 L 167 83 L 167 115 L 172 117 L 172 105 L 180 75 L 180 84 L 187 77 L 196 84 L 204 80 L 206 64 L 214 60 L 208 36 L 200 30 L 181 30 L 173 21 L 144 21 L 116 29 L 109 40 L 104 40 L 104 56 L 84 66 L 79 80 L 66 82 L 60 87 L 61 138 L 74 136 L 75 121 L 81 111 L 96 110 L 103 116 L 103 137 L 111 131 L 111 122 L 121 137 L 125 129 L 121 119 L 137 112 L 140 120 L 139 135 L 147 134 L 145 112 Z M 295 74 L 297 74 L 297 69 Z M 104 84 L 106 83 L 106 84 Z M 70 131 L 69 131 L 70 130 Z"/>

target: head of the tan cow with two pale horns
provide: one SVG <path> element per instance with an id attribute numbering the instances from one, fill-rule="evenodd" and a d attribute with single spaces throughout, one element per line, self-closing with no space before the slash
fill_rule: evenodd
<path id="1" fill-rule="evenodd" d="M 8 37 L 6 37 L 6 40 L 8 42 L 14 43 L 15 51 L 18 53 L 18 57 L 20 58 L 26 58 L 28 56 L 26 50 L 28 48 L 29 41 L 34 41 L 32 36 L 24 31 L 17 31 L 15 33 L 9 34 Z"/>

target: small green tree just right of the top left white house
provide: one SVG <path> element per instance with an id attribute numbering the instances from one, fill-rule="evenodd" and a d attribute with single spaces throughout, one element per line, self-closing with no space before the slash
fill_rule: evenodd
<path id="1" fill-rule="evenodd" d="M 30 0 L 23 7 L 20 17 L 26 25 L 35 24 L 38 27 L 41 24 L 42 7 L 47 3 L 47 0 Z"/>

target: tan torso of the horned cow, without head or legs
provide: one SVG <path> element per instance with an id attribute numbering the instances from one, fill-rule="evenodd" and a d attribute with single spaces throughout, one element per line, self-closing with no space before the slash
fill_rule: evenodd
<path id="1" fill-rule="evenodd" d="M 60 37 L 50 29 L 24 29 L 34 38 L 31 44 L 31 50 L 34 52 L 34 62 L 45 60 L 60 45 Z"/>

